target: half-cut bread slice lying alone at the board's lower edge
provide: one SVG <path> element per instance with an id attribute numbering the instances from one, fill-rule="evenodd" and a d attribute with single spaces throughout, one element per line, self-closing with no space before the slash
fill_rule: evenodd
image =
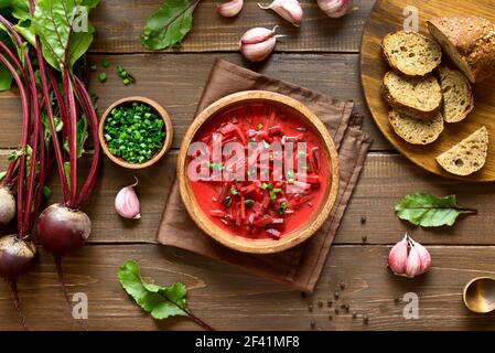
<path id="1" fill-rule="evenodd" d="M 485 165 L 488 131 L 482 127 L 467 138 L 437 157 L 437 162 L 449 173 L 470 175 Z"/>

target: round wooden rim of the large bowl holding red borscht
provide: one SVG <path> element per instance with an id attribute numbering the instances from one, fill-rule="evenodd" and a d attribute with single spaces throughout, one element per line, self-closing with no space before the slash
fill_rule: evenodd
<path id="1" fill-rule="evenodd" d="M 322 147 L 327 156 L 329 168 L 331 169 L 331 186 L 327 188 L 326 194 L 320 205 L 320 210 L 315 211 L 311 218 L 300 228 L 284 234 L 280 239 L 248 239 L 235 236 L 220 228 L 198 205 L 192 191 L 187 173 L 187 149 L 194 141 L 197 132 L 209 119 L 227 109 L 246 103 L 267 101 L 284 109 L 292 110 L 309 126 L 314 127 L 314 131 L 320 136 Z M 229 248 L 251 254 L 271 254 L 278 253 L 304 242 L 311 237 L 326 221 L 335 204 L 338 192 L 338 154 L 333 143 L 332 137 L 323 122 L 304 105 L 290 97 L 265 90 L 248 90 L 224 97 L 212 104 L 203 110 L 189 128 L 181 146 L 177 159 L 177 179 L 182 201 L 194 220 L 196 225 L 213 239 Z"/>

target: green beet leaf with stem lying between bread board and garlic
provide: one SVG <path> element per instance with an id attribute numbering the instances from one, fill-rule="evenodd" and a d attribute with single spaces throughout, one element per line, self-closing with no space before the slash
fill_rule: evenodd
<path id="1" fill-rule="evenodd" d="M 427 193 L 406 195 L 396 205 L 396 214 L 400 220 L 422 227 L 452 226 L 461 214 L 476 214 L 476 210 L 462 208 L 455 195 L 437 197 Z"/>

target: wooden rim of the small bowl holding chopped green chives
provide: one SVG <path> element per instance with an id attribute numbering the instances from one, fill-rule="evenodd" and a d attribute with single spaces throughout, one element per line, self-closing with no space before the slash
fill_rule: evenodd
<path id="1" fill-rule="evenodd" d="M 107 146 L 107 141 L 105 140 L 105 122 L 107 120 L 107 117 L 110 115 L 111 110 L 114 110 L 115 108 L 125 105 L 125 104 L 130 104 L 130 103 L 134 103 L 134 101 L 140 101 L 140 103 L 144 103 L 147 105 L 149 105 L 151 108 L 153 108 L 154 113 L 160 116 L 163 121 L 165 122 L 165 140 L 163 142 L 163 147 L 162 149 L 157 152 L 149 161 L 144 162 L 144 163 L 129 163 L 127 161 L 125 161 L 123 159 L 121 159 L 120 157 L 116 157 L 114 154 L 111 154 L 110 150 L 108 149 Z M 117 100 L 116 103 L 114 103 L 111 106 L 108 107 L 107 110 L 105 110 L 101 120 L 99 121 L 99 130 L 98 130 L 98 136 L 99 136 L 99 143 L 101 145 L 101 148 L 105 152 L 105 154 L 107 154 L 107 157 L 116 164 L 119 164 L 120 167 L 123 168 L 128 168 L 128 169 L 143 169 L 143 168 L 148 168 L 154 163 L 157 163 L 170 149 L 170 147 L 172 146 L 172 140 L 173 140 L 173 128 L 172 128 L 172 120 L 170 119 L 169 114 L 166 113 L 166 110 L 159 105 L 157 101 L 146 98 L 146 97 L 139 97 L 139 96 L 133 96 L 133 97 L 127 97 L 127 98 L 122 98 Z"/>

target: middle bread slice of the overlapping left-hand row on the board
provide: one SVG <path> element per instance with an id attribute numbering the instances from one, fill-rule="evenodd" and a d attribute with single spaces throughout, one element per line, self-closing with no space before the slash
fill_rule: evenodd
<path id="1" fill-rule="evenodd" d="M 383 90 L 395 110 L 419 119 L 434 118 L 442 106 L 442 89 L 432 75 L 402 77 L 390 71 L 385 75 Z"/>

